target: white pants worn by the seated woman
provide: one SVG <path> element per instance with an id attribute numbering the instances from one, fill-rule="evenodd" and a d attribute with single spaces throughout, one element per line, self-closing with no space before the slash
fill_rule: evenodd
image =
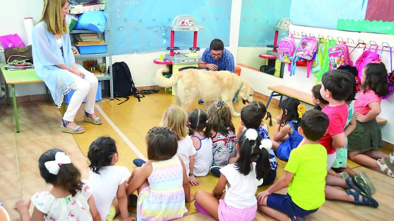
<path id="1" fill-rule="evenodd" d="M 85 74 L 85 78 L 76 76 L 70 73 L 74 78 L 73 90 L 74 94 L 71 96 L 70 103 L 68 104 L 67 111 L 64 113 L 63 119 L 69 122 L 74 121 L 74 117 L 80 109 L 82 101 L 86 98 L 85 111 L 89 114 L 94 113 L 94 104 L 96 100 L 97 86 L 99 81 L 90 72 L 86 71 L 84 68 L 79 67 L 79 69 Z"/>

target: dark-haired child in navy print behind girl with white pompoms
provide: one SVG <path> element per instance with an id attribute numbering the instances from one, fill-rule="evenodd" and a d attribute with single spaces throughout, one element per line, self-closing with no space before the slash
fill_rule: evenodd
<path id="1" fill-rule="evenodd" d="M 251 128 L 257 130 L 263 140 L 270 140 L 268 126 L 262 123 L 266 114 L 267 118 L 271 116 L 271 114 L 267 112 L 265 105 L 260 101 L 253 101 L 248 106 L 243 107 L 241 111 L 241 126 L 239 128 L 239 131 L 241 131 L 240 134 L 242 134 L 243 130 Z M 270 123 L 270 126 L 272 126 L 272 122 Z M 264 177 L 262 185 L 271 184 L 275 178 L 277 178 L 278 162 L 272 147 L 268 149 L 268 154 L 271 167 L 267 176 Z"/>

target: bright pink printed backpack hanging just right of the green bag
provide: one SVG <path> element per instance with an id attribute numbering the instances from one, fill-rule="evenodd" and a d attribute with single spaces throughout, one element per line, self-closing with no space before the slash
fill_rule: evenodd
<path id="1" fill-rule="evenodd" d="M 329 48 L 328 57 L 330 58 L 330 70 L 338 69 L 344 65 L 353 66 L 346 42 L 340 42 L 338 45 Z"/>

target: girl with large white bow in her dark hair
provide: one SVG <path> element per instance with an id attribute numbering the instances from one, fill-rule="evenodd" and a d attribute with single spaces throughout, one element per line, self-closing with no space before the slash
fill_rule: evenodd
<path id="1" fill-rule="evenodd" d="M 101 220 L 90 186 L 81 181 L 80 171 L 61 149 L 50 149 L 38 159 L 40 174 L 49 191 L 36 192 L 25 203 L 17 201 L 14 209 L 21 220 Z M 34 209 L 30 219 L 29 207 Z"/>

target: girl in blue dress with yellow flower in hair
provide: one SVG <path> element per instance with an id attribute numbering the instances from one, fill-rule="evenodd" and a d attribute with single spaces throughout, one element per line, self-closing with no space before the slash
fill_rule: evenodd
<path id="1" fill-rule="evenodd" d="M 297 128 L 305 113 L 305 105 L 300 104 L 298 99 L 289 97 L 282 101 L 280 106 L 282 113 L 277 117 L 272 146 L 277 157 L 287 161 L 291 150 L 296 148 L 303 139 Z"/>

